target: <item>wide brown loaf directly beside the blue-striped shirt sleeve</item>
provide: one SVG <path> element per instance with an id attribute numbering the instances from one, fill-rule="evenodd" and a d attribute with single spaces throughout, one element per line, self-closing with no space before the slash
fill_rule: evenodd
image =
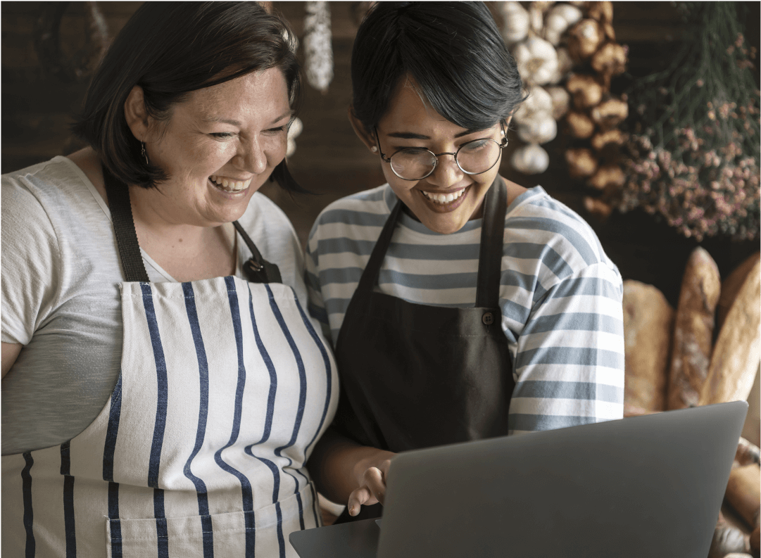
<path id="1" fill-rule="evenodd" d="M 652 285 L 623 282 L 624 415 L 663 411 L 673 309 Z"/>

